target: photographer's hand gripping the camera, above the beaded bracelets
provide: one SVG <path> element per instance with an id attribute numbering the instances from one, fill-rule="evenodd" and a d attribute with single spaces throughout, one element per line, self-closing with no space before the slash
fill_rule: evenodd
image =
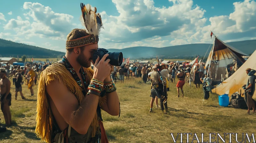
<path id="1" fill-rule="evenodd" d="M 111 71 L 111 65 L 109 64 L 110 59 L 106 60 L 107 56 L 108 54 L 105 54 L 101 60 L 98 56 L 94 64 L 94 73 L 92 78 L 103 82 L 109 76 L 109 73 Z"/>

